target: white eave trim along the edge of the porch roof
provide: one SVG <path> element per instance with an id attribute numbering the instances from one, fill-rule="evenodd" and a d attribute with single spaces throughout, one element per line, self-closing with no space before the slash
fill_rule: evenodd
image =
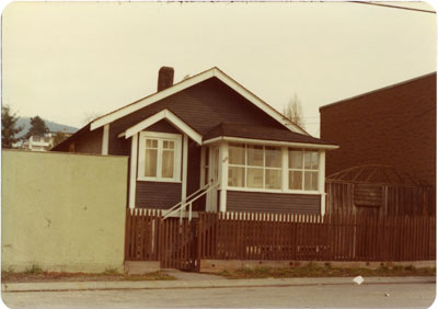
<path id="1" fill-rule="evenodd" d="M 279 140 L 266 140 L 266 139 L 254 139 L 254 138 L 242 138 L 242 137 L 228 137 L 228 136 L 219 136 L 219 137 L 204 140 L 203 145 L 210 145 L 210 144 L 218 142 L 220 140 L 226 140 L 226 141 L 231 141 L 231 142 L 243 142 L 243 144 L 250 142 L 250 144 L 258 144 L 258 145 L 289 146 L 289 147 L 299 147 L 299 148 L 308 148 L 308 149 L 333 150 L 333 149 L 339 148 L 339 146 L 337 146 L 337 145 L 279 141 Z"/>

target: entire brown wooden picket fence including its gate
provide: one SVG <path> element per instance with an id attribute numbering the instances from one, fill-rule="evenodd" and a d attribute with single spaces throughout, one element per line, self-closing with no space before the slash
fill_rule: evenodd
<path id="1" fill-rule="evenodd" d="M 201 259 L 290 261 L 422 261 L 436 259 L 430 216 L 198 213 L 163 219 L 127 209 L 125 259 L 197 271 Z"/>

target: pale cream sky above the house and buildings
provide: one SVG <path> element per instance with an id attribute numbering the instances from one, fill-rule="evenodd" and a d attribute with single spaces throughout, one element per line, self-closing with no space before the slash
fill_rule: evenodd
<path id="1" fill-rule="evenodd" d="M 427 3 L 393 5 L 434 10 Z M 349 2 L 13 2 L 2 14 L 2 104 L 82 127 L 214 66 L 277 110 L 319 107 L 436 71 L 436 14 Z"/>

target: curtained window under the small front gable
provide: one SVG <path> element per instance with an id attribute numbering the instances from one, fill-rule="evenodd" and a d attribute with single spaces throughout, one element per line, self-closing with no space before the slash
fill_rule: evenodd
<path id="1" fill-rule="evenodd" d="M 169 138 L 168 138 L 169 136 Z M 139 149 L 139 180 L 178 181 L 181 137 L 142 135 Z"/>

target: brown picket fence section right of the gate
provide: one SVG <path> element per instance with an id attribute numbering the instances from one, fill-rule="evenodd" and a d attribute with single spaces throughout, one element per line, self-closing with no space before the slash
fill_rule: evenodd
<path id="1" fill-rule="evenodd" d="M 435 259 L 435 217 L 201 214 L 200 259 Z"/>

